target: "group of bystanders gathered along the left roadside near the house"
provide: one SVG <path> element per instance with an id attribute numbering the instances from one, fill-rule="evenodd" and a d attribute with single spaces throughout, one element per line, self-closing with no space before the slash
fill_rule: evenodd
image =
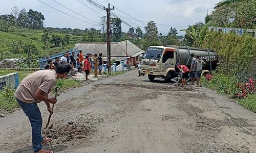
<path id="1" fill-rule="evenodd" d="M 99 50 L 98 50 L 99 53 Z M 85 59 L 83 58 L 82 50 L 79 50 L 79 54 L 77 54 L 77 57 L 75 57 L 75 53 L 73 52 L 72 55 L 70 55 L 69 52 L 66 52 L 63 54 L 63 56 L 59 59 L 58 57 L 55 58 L 55 61 L 48 60 L 48 64 L 45 66 L 44 69 L 55 69 L 57 64 L 59 62 L 67 62 L 70 63 L 72 66 L 72 69 L 70 73 L 68 74 L 68 77 L 71 77 L 71 75 L 77 74 L 77 72 L 85 72 L 86 73 L 86 81 L 88 81 L 88 75 L 90 71 L 94 68 L 94 77 L 97 77 L 97 75 L 101 75 L 102 73 L 102 66 L 103 66 L 103 59 L 102 59 L 102 53 L 99 54 L 99 57 L 97 57 L 97 54 L 94 54 L 94 58 L 92 59 L 92 54 L 89 53 L 85 56 Z"/>

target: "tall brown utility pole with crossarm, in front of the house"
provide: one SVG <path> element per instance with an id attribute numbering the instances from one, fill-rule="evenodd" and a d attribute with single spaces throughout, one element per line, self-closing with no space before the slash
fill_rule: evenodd
<path id="1" fill-rule="evenodd" d="M 106 45 L 107 50 L 108 50 L 108 73 L 111 73 L 111 50 L 110 50 L 110 45 L 111 45 L 111 41 L 110 41 L 110 10 L 114 10 L 115 7 L 113 6 L 113 9 L 110 8 L 110 4 L 109 4 L 109 8 L 105 8 L 104 10 L 106 10 Z"/>

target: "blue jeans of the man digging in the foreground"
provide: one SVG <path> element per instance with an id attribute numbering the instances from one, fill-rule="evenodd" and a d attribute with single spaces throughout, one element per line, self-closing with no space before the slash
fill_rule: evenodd
<path id="1" fill-rule="evenodd" d="M 17 99 L 17 98 L 16 98 Z M 41 112 L 36 103 L 24 103 L 17 99 L 19 106 L 24 113 L 28 116 L 32 126 L 32 144 L 34 152 L 39 151 L 42 148 L 42 117 Z"/>

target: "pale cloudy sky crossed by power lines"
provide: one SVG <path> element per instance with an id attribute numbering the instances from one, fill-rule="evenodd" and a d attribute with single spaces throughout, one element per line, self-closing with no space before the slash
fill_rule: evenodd
<path id="1" fill-rule="evenodd" d="M 63 14 L 53 8 L 42 4 L 44 2 L 62 12 L 77 17 L 83 21 Z M 62 7 L 56 2 L 66 6 L 74 12 L 82 15 L 79 16 L 74 12 Z M 99 25 L 94 25 L 100 22 L 100 17 L 106 15 L 104 10 L 98 10 L 92 6 L 87 0 L 0 0 L 0 14 L 10 14 L 11 8 L 17 6 L 19 9 L 25 8 L 37 10 L 45 15 L 44 25 L 45 27 L 58 27 L 58 28 L 95 28 L 100 29 Z M 81 2 L 79 2 L 81 1 Z M 166 35 L 170 27 L 175 27 L 179 32 L 180 29 L 185 29 L 188 25 L 196 22 L 204 22 L 207 9 L 210 13 L 214 10 L 215 5 L 221 0 L 92 0 L 93 2 L 105 6 L 108 6 L 108 2 L 115 6 L 115 10 L 111 12 L 115 13 L 119 18 L 129 23 L 132 27 L 140 27 L 144 30 L 148 21 L 155 21 L 158 27 L 159 33 Z M 107 2 L 108 1 L 108 2 Z M 87 6 L 86 6 L 87 5 Z M 91 9 L 90 9 L 90 8 Z M 95 11 L 93 11 L 95 10 Z M 121 12 L 121 11 L 122 12 Z M 96 12 L 97 11 L 97 12 Z M 130 16 L 124 14 L 129 14 Z M 86 18 L 84 18 L 86 17 Z M 89 19 L 91 20 L 89 20 Z M 137 19 L 131 20 L 131 19 Z M 86 22 L 84 22 L 86 21 Z M 93 22 L 94 21 L 94 22 Z M 146 22 L 144 22 L 146 21 Z M 90 23 L 93 24 L 90 24 Z M 167 24 L 161 25 L 161 24 Z M 122 31 L 127 32 L 130 26 L 122 24 Z M 179 34 L 184 34 L 179 32 Z"/>

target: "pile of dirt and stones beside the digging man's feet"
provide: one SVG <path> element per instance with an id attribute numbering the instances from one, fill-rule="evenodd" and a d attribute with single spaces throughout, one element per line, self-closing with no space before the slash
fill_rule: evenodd
<path id="1" fill-rule="evenodd" d="M 84 123 L 68 122 L 63 126 L 53 127 L 53 124 L 48 129 L 42 131 L 43 134 L 50 138 L 57 139 L 58 143 L 65 143 L 71 140 L 85 138 L 97 130 L 93 126 L 85 125 Z"/>

